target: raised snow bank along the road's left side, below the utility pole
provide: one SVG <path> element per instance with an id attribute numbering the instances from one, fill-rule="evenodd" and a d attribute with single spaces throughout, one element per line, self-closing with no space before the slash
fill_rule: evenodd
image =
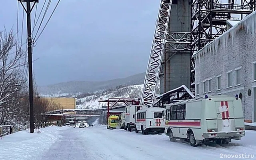
<path id="1" fill-rule="evenodd" d="M 23 130 L 4 136 L 0 140 L 0 159 L 5 160 L 34 160 L 60 139 L 59 130 L 68 127 L 50 126 L 40 129 L 40 133 L 30 134 Z"/>

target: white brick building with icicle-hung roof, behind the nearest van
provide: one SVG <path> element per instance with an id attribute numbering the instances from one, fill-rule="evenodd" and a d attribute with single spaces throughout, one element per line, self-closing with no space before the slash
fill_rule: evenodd
<path id="1" fill-rule="evenodd" d="M 196 97 L 238 95 L 246 122 L 256 122 L 256 12 L 193 55 Z"/>

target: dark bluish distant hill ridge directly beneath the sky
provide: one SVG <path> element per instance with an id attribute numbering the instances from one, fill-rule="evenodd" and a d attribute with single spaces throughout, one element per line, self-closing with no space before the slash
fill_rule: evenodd
<path id="1" fill-rule="evenodd" d="M 39 86 L 41 96 L 78 96 L 78 94 L 92 93 L 99 90 L 108 90 L 117 86 L 143 84 L 146 73 L 135 74 L 126 78 L 102 82 L 69 81 L 48 86 Z"/>

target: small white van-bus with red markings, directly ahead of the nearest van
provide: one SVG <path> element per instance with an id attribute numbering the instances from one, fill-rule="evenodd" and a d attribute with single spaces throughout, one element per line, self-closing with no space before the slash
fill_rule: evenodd
<path id="1" fill-rule="evenodd" d="M 165 130 L 165 108 L 150 107 L 139 110 L 136 116 L 135 132 L 142 134 L 164 133 Z"/>

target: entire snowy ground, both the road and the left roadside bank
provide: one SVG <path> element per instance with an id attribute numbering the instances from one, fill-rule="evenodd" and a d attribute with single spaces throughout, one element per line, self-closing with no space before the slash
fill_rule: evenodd
<path id="1" fill-rule="evenodd" d="M 49 131 L 49 133 L 46 133 Z M 256 132 L 246 131 L 241 141 L 228 145 L 192 147 L 170 142 L 162 135 L 142 135 L 106 126 L 52 127 L 29 136 L 17 133 L 0 140 L 0 159 L 6 160 L 216 160 L 221 154 L 255 154 Z M 22 139 L 22 141 L 20 140 Z M 228 158 L 230 159 L 230 158 Z"/>

